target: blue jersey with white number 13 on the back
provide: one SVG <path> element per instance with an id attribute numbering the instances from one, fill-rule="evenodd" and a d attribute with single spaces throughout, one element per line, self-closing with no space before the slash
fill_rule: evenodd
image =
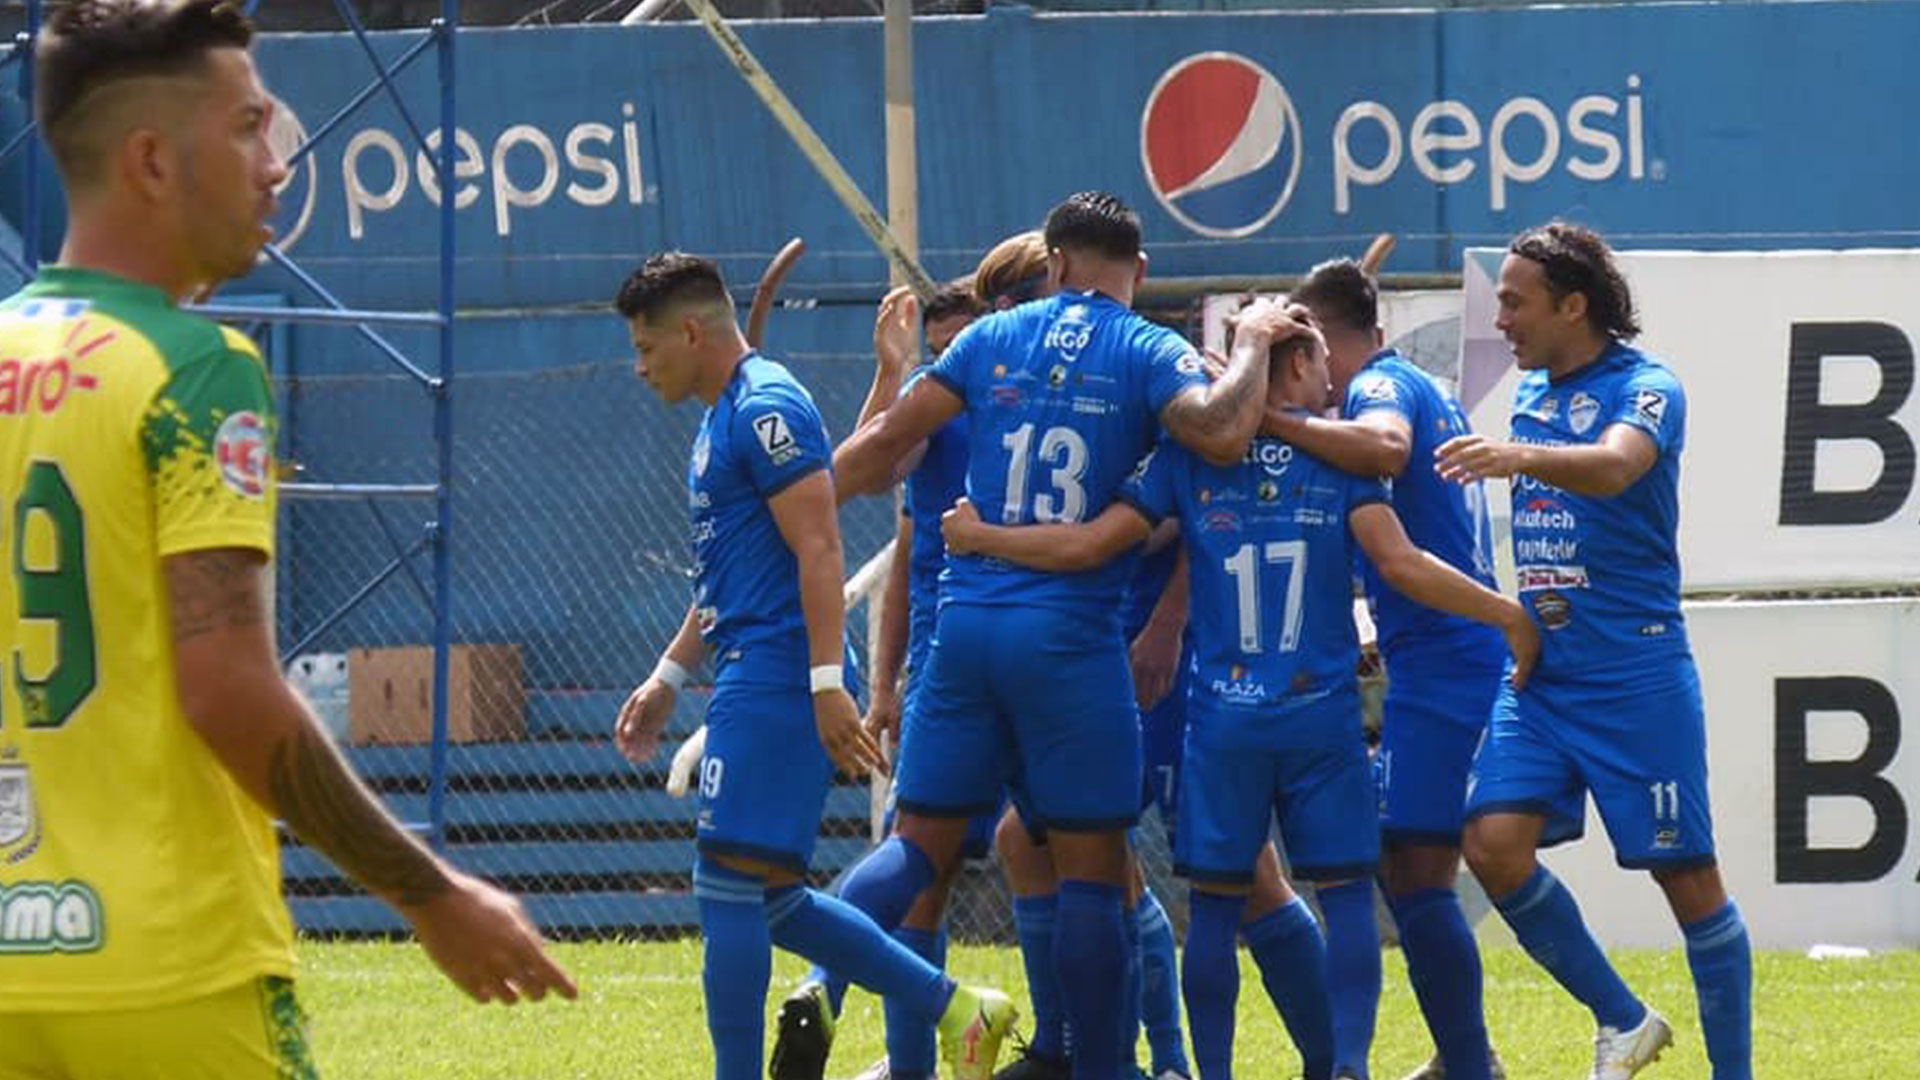
<path id="1" fill-rule="evenodd" d="M 966 402 L 968 498 L 998 525 L 1098 513 L 1154 444 L 1160 409 L 1206 382 L 1185 338 L 1098 292 L 1062 292 L 979 319 L 929 377 Z M 1117 619 L 1133 561 L 1050 575 L 954 555 L 941 600 Z"/>

